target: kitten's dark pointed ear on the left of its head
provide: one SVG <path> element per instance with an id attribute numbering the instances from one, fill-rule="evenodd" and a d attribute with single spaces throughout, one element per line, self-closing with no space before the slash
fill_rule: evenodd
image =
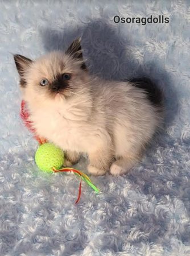
<path id="1" fill-rule="evenodd" d="M 16 68 L 18 70 L 18 73 L 20 77 L 23 76 L 23 74 L 26 72 L 30 64 L 32 63 L 32 60 L 28 59 L 27 57 L 24 57 L 19 54 L 14 55 L 14 60 L 16 64 Z"/>

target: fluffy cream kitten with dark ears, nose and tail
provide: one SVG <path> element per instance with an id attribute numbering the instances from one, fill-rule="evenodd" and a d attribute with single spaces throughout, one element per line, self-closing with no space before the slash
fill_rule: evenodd
<path id="1" fill-rule="evenodd" d="M 85 152 L 91 174 L 125 174 L 162 122 L 161 94 L 151 81 L 90 75 L 80 39 L 65 53 L 54 51 L 35 61 L 14 55 L 14 60 L 34 128 L 63 148 L 65 166 Z"/>

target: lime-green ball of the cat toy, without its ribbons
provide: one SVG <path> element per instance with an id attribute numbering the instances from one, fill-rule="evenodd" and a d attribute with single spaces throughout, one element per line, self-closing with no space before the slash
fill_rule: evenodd
<path id="1" fill-rule="evenodd" d="M 60 169 L 63 166 L 64 153 L 54 144 L 44 143 L 36 151 L 35 161 L 40 170 L 53 172 L 53 167 Z"/>

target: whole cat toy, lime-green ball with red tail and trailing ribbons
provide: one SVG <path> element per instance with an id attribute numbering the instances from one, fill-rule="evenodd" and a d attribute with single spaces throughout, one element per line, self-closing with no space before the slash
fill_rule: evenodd
<path id="1" fill-rule="evenodd" d="M 20 117 L 22 118 L 24 125 L 34 134 L 34 138 L 39 142 L 38 150 L 35 154 L 35 162 L 41 171 L 44 172 L 73 172 L 74 174 L 80 176 L 80 184 L 79 184 L 79 193 L 76 200 L 76 204 L 80 200 L 81 196 L 81 183 L 82 180 L 86 182 L 96 193 L 99 192 L 99 189 L 92 183 L 90 178 L 84 174 L 83 172 L 76 170 L 74 168 L 61 168 L 64 164 L 64 152 L 53 143 L 49 143 L 46 138 L 40 138 L 32 127 L 32 121 L 30 120 L 30 114 L 26 108 L 26 101 L 22 100 L 21 109 L 20 109 Z"/>

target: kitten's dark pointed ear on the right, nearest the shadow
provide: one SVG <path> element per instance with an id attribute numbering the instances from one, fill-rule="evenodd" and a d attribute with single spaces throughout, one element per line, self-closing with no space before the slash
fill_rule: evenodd
<path id="1" fill-rule="evenodd" d="M 82 49 L 81 49 L 81 38 L 77 38 L 75 41 L 72 42 L 71 46 L 65 52 L 73 57 L 73 59 L 81 60 L 81 69 L 87 69 L 85 65 L 85 61 L 82 56 Z"/>

